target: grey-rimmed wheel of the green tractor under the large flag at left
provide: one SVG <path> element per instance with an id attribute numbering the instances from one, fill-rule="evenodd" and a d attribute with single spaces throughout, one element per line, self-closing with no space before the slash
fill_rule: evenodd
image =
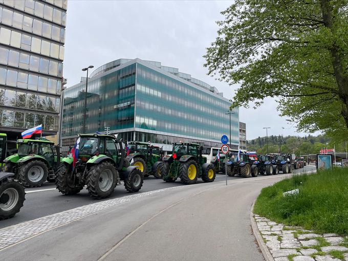
<path id="1" fill-rule="evenodd" d="M 39 187 L 46 180 L 48 168 L 46 164 L 39 160 L 29 161 L 20 166 L 18 171 L 19 180 L 25 187 Z"/>

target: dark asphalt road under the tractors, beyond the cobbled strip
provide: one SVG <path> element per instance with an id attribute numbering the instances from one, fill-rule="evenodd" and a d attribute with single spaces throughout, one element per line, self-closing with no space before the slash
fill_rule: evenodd
<path id="1" fill-rule="evenodd" d="M 295 170 L 294 172 L 302 172 L 312 170 L 313 167 L 305 167 L 303 169 Z M 282 174 L 279 174 L 281 176 Z M 258 176 L 256 178 L 241 178 L 241 177 L 227 177 L 229 183 L 233 183 L 236 180 L 257 180 L 264 176 Z M 276 177 L 276 176 L 274 176 Z M 221 173 L 216 175 L 216 181 L 224 181 L 225 175 Z M 198 184 L 202 184 L 203 181 L 199 179 Z M 175 183 L 167 183 L 161 179 L 155 179 L 153 176 L 144 179 L 143 187 L 137 193 L 143 193 L 146 191 L 152 191 L 161 188 L 174 187 L 174 186 L 187 186 L 183 185 L 180 180 Z M 190 185 L 192 186 L 192 185 Z M 53 183 L 45 183 L 39 188 L 27 188 L 26 189 L 26 201 L 24 206 L 20 209 L 12 219 L 0 221 L 0 229 L 8 226 L 12 226 L 21 222 L 34 220 L 42 216 L 58 213 L 64 210 L 73 209 L 76 207 L 96 203 L 113 198 L 121 198 L 126 195 L 134 194 L 125 190 L 123 185 L 119 185 L 115 188 L 111 197 L 104 200 L 96 200 L 88 195 L 88 191 L 83 189 L 76 195 L 63 195 L 57 189 L 55 189 Z"/>

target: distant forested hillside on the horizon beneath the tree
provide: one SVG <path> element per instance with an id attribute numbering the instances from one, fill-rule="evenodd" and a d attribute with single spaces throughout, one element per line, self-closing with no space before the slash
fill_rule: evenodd
<path id="1" fill-rule="evenodd" d="M 348 140 L 348 139 L 347 139 Z M 328 143 L 328 145 L 326 145 Z M 247 141 L 248 151 L 256 150 L 259 154 L 265 154 L 267 150 L 266 137 L 258 137 L 254 140 Z M 348 142 L 347 142 L 348 144 Z M 345 142 L 334 144 L 329 137 L 325 135 L 298 137 L 298 136 L 274 136 L 268 137 L 268 152 L 277 153 L 279 146 L 281 146 L 281 152 L 294 153 L 296 155 L 317 154 L 321 148 L 328 147 L 334 148 L 336 151 L 345 151 Z"/>

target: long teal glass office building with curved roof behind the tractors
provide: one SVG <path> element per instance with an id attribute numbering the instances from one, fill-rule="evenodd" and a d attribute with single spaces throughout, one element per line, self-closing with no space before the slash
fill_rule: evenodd
<path id="1" fill-rule="evenodd" d="M 73 146 L 82 132 L 85 79 L 64 91 L 62 145 Z M 96 69 L 88 80 L 86 132 L 110 127 L 123 140 L 221 146 L 229 135 L 231 102 L 217 89 L 177 68 L 141 59 L 119 59 Z M 234 148 L 239 144 L 238 109 L 231 115 Z"/>

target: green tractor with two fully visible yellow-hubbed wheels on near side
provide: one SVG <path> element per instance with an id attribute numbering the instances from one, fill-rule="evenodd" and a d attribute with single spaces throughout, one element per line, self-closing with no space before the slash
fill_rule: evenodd
<path id="1" fill-rule="evenodd" d="M 202 157 L 202 147 L 197 143 L 173 143 L 172 154 L 163 157 L 160 164 L 162 179 L 175 182 L 178 177 L 183 184 L 195 184 L 198 178 L 204 182 L 213 182 L 215 167 Z"/>

